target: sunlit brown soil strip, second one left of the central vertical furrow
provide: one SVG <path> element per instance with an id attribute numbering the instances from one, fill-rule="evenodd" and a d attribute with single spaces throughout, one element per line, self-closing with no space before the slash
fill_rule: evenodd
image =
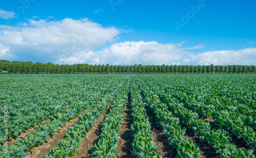
<path id="1" fill-rule="evenodd" d="M 82 115 L 84 112 L 87 112 L 87 110 L 84 110 L 80 115 Z M 67 133 L 68 128 L 78 122 L 78 117 L 75 117 L 72 122 L 67 121 L 64 126 L 62 126 L 58 131 L 55 131 L 55 135 L 51 137 L 50 140 L 45 140 L 45 143 L 41 144 L 40 146 L 35 147 L 33 152 L 27 152 L 27 158 L 43 158 L 45 155 L 48 155 L 50 150 L 57 146 L 58 140 L 62 139 L 62 136 Z"/>

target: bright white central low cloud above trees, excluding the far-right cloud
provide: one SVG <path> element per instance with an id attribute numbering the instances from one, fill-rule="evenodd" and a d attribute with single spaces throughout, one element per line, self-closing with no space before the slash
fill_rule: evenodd
<path id="1" fill-rule="evenodd" d="M 58 63 L 109 63 L 113 65 L 173 64 L 186 56 L 188 52 L 185 50 L 191 49 L 182 47 L 183 43 L 161 44 L 156 41 L 125 41 L 114 43 L 109 48 L 104 48 L 98 52 L 82 51 L 72 57 L 61 58 Z"/>

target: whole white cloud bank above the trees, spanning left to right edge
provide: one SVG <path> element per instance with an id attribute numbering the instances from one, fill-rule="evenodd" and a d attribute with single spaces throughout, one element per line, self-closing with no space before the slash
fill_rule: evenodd
<path id="1" fill-rule="evenodd" d="M 121 32 L 87 18 L 0 25 L 0 59 L 55 64 L 256 65 L 256 48 L 202 52 L 204 45 L 186 47 L 185 42 L 116 42 Z M 99 47 L 103 48 L 94 51 Z"/>

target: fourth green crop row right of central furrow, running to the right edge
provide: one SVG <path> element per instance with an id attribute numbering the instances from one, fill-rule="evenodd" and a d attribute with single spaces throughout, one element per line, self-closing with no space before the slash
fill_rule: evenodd
<path id="1" fill-rule="evenodd" d="M 202 116 L 214 118 L 215 125 L 223 127 L 227 131 L 231 131 L 234 134 L 234 136 L 238 137 L 239 139 L 244 139 L 249 145 L 249 147 L 252 147 L 254 150 L 256 150 L 256 132 L 253 130 L 252 127 L 245 125 L 241 117 L 233 115 L 231 107 L 236 109 L 236 106 L 226 104 L 222 106 L 222 109 L 225 106 L 226 109 L 221 110 L 218 109 L 217 106 L 215 106 L 216 103 L 202 104 L 202 102 L 197 101 L 196 99 L 191 99 L 189 95 L 182 95 L 183 93 L 179 91 L 177 88 L 175 88 L 175 86 L 170 87 L 163 84 L 159 85 L 167 92 L 172 94 L 174 97 L 179 99 L 179 101 L 184 103 L 188 109 L 198 112 Z M 252 121 L 255 120 L 252 119 Z"/>

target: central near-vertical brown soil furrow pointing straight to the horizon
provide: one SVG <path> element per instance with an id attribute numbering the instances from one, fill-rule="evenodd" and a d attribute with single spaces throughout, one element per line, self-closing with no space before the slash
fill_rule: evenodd
<path id="1" fill-rule="evenodd" d="M 117 140 L 117 157 L 135 157 L 131 151 L 133 150 L 133 147 L 130 145 L 133 142 L 133 137 L 131 136 L 132 130 L 131 125 L 133 123 L 133 116 L 132 116 L 132 108 L 131 108 L 131 95 L 129 93 L 128 101 L 126 101 L 125 111 L 123 113 L 124 119 L 120 127 L 121 129 L 118 131 L 118 136 L 121 137 L 121 139 Z"/>

